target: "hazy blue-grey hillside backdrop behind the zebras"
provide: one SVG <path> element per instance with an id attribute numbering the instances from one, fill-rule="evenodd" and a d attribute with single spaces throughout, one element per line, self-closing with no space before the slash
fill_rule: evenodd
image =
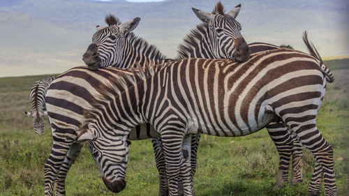
<path id="1" fill-rule="evenodd" d="M 141 17 L 135 34 L 174 57 L 184 36 L 200 24 L 191 7 L 211 11 L 216 2 L 1 0 L 0 77 L 61 73 L 82 65 L 82 54 L 107 13 L 123 22 Z M 304 51 L 302 31 L 308 30 L 322 56 L 349 54 L 348 1 L 222 1 L 227 11 L 240 2 L 237 20 L 248 43 L 290 44 Z"/>

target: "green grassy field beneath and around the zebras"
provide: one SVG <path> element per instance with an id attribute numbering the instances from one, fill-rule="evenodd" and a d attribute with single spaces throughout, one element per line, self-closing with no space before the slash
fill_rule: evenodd
<path id="1" fill-rule="evenodd" d="M 317 125 L 334 148 L 339 195 L 348 195 L 349 69 L 340 68 L 349 68 L 349 63 L 340 62 L 330 66 L 336 81 L 327 84 Z M 43 195 L 43 165 L 52 145 L 50 126 L 46 122 L 44 135 L 39 137 L 31 119 L 23 113 L 29 110 L 30 86 L 43 77 L 0 78 L 0 195 Z M 246 137 L 202 135 L 196 195 L 306 195 L 314 165 L 311 153 L 304 150 L 304 182 L 297 186 L 288 183 L 273 190 L 278 163 L 279 156 L 266 130 Z M 116 195 L 98 176 L 84 146 L 68 174 L 67 195 Z M 150 140 L 132 142 L 126 181 L 125 190 L 117 195 L 157 195 L 158 174 Z"/>

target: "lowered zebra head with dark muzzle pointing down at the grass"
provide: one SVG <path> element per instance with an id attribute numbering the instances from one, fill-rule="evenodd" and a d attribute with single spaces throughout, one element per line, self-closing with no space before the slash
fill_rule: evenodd
<path id="1" fill-rule="evenodd" d="M 113 193 L 119 193 L 126 187 L 128 144 L 126 137 L 110 136 L 89 141 L 89 151 L 97 164 L 101 179 Z"/>

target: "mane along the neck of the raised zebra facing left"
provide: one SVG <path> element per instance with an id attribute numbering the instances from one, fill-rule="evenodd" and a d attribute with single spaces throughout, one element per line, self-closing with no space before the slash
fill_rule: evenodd
<path id="1" fill-rule="evenodd" d="M 138 36 L 135 36 L 133 32 L 126 33 L 126 37 L 130 41 L 131 45 L 137 47 L 138 52 L 140 51 L 151 51 L 151 59 L 166 59 L 167 57 L 158 50 L 158 48 L 155 45 L 151 45 L 147 42 L 147 40 L 144 40 L 143 38 L 140 38 Z"/>

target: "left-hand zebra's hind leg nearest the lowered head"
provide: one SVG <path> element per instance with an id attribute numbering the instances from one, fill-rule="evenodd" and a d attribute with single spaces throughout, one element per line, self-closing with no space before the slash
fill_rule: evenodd
<path id="1" fill-rule="evenodd" d="M 74 143 L 73 146 L 68 151 L 64 162 L 59 169 L 59 174 L 57 175 L 57 179 L 54 182 L 54 190 L 55 195 L 66 195 L 66 176 L 70 169 L 70 166 L 74 164 L 75 159 L 79 156 L 82 145 L 78 143 Z"/>

